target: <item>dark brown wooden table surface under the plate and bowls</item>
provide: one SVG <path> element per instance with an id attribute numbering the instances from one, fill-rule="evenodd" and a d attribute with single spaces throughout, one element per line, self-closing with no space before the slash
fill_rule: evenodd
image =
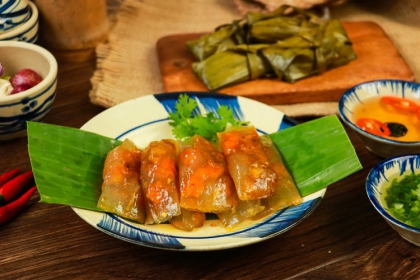
<path id="1" fill-rule="evenodd" d="M 57 97 L 46 123 L 80 127 L 104 108 L 90 103 L 95 62 L 59 63 Z M 298 119 L 305 122 L 308 119 Z M 328 187 L 320 206 L 270 240 L 210 252 L 175 252 L 104 234 L 68 206 L 38 203 L 0 226 L 5 279 L 416 279 L 420 249 L 370 204 L 365 178 L 381 159 L 348 130 L 363 170 Z M 27 139 L 0 143 L 0 173 L 30 169 Z"/>

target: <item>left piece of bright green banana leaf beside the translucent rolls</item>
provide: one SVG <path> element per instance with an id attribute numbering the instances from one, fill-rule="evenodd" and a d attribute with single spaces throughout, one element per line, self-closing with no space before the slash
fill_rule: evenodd
<path id="1" fill-rule="evenodd" d="M 28 122 L 28 151 L 41 201 L 97 210 L 105 157 L 121 143 L 76 128 Z"/>

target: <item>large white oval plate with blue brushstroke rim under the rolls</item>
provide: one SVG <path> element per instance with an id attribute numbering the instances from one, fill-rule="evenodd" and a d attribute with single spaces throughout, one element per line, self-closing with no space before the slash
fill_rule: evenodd
<path id="1" fill-rule="evenodd" d="M 168 112 L 174 110 L 179 94 L 149 95 L 127 101 L 105 110 L 82 129 L 120 140 L 129 138 L 141 148 L 153 140 L 174 138 L 168 124 Z M 216 112 L 220 105 L 228 105 L 238 119 L 250 121 L 261 134 L 295 124 L 280 111 L 251 99 L 201 92 L 188 94 L 196 99 L 201 113 Z M 325 191 L 305 197 L 299 206 L 258 221 L 246 221 L 234 232 L 226 231 L 217 219 L 207 220 L 203 227 L 186 232 L 170 224 L 141 225 L 113 214 L 73 209 L 98 230 L 138 245 L 168 250 L 222 250 L 261 242 L 289 230 L 312 213 Z"/>

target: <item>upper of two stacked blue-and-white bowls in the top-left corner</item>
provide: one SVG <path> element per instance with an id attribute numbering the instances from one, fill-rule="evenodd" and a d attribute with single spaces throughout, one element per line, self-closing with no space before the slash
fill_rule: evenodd
<path id="1" fill-rule="evenodd" d="M 28 0 L 0 1 L 0 33 L 26 22 L 31 16 Z"/>

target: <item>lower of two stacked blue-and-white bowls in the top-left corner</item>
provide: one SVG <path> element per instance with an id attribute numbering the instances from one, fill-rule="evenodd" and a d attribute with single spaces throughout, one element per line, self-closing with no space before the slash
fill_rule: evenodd
<path id="1" fill-rule="evenodd" d="M 1 2 L 1 1 L 0 1 Z M 0 41 L 24 41 L 34 43 L 38 39 L 38 9 L 31 1 L 29 3 L 30 17 L 22 24 L 5 32 L 0 32 Z"/>

